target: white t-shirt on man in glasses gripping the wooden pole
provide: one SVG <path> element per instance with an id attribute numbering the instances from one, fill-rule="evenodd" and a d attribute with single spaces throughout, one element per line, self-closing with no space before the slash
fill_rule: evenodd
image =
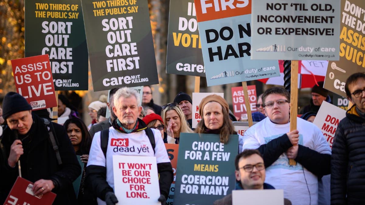
<path id="1" fill-rule="evenodd" d="M 275 124 L 266 117 L 246 130 L 243 135 L 243 150 L 257 149 L 262 144 L 288 133 L 289 130 L 290 123 Z M 300 145 L 322 154 L 331 154 L 331 148 L 322 132 L 313 123 L 297 117 L 297 130 Z M 309 204 L 310 201 L 312 205 L 318 204 L 318 178 L 300 163 L 289 166 L 285 152 L 266 168 L 265 182 L 273 185 L 275 189 L 283 189 L 284 197 L 288 198 L 293 205 Z M 309 196 L 307 184 L 311 196 Z"/>

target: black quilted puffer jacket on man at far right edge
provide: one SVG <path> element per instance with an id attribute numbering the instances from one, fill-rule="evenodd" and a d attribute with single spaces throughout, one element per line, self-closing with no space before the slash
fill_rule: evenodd
<path id="1" fill-rule="evenodd" d="M 365 204 L 365 119 L 355 105 L 346 112 L 335 132 L 331 204 Z"/>

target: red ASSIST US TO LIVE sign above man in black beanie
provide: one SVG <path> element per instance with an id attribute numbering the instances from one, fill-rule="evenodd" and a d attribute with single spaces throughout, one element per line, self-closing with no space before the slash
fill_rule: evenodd
<path id="1" fill-rule="evenodd" d="M 57 107 L 48 54 L 11 60 L 16 91 L 33 110 Z"/>

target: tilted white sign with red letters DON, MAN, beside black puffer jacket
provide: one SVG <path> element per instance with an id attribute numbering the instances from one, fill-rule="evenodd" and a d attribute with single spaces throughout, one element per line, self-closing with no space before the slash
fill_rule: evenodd
<path id="1" fill-rule="evenodd" d="M 313 121 L 313 124 L 323 132 L 323 136 L 331 148 L 338 123 L 344 117 L 346 117 L 345 110 L 323 101 Z"/>

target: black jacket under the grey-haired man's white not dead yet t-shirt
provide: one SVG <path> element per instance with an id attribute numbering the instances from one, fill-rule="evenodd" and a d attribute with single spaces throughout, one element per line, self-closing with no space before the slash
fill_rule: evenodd
<path id="1" fill-rule="evenodd" d="M 115 124 L 116 123 L 114 120 L 112 125 L 115 126 Z M 141 119 L 138 119 L 138 127 L 132 132 L 141 131 L 146 128 L 146 124 Z M 157 163 L 157 171 L 160 175 L 160 194 L 163 194 L 167 199 L 170 192 L 170 186 L 174 178 L 171 163 Z M 95 196 L 99 197 L 103 201 L 105 201 L 105 194 L 107 192 L 114 192 L 112 187 L 109 186 L 108 182 L 106 181 L 106 178 L 107 169 L 105 166 L 89 165 L 86 167 L 86 183 L 87 185 L 91 186 Z"/>

